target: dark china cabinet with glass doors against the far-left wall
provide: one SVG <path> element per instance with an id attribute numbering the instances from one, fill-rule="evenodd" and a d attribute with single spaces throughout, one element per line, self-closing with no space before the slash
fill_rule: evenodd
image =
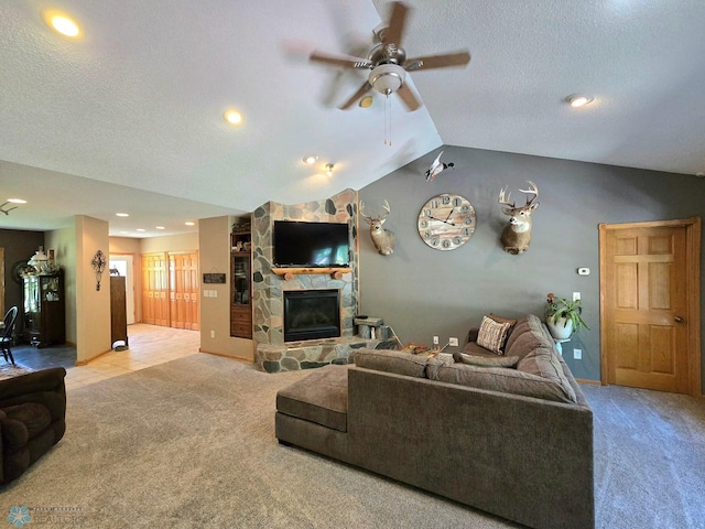
<path id="1" fill-rule="evenodd" d="M 32 345 L 63 344 L 66 342 L 66 310 L 64 274 L 25 276 L 24 339 Z"/>

